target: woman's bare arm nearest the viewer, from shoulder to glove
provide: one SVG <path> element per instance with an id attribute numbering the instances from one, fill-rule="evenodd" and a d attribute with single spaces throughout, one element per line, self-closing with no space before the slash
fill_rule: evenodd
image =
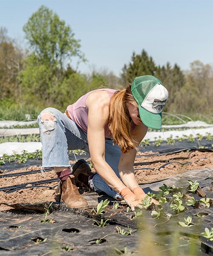
<path id="1" fill-rule="evenodd" d="M 105 161 L 104 128 L 109 119 L 109 95 L 106 91 L 91 93 L 86 105 L 89 110 L 87 137 L 93 166 L 102 179 L 119 192 L 125 188 L 125 185 Z"/>

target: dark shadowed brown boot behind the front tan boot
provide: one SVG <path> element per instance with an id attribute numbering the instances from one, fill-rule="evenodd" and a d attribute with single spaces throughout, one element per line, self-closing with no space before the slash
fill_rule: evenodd
<path id="1" fill-rule="evenodd" d="M 95 175 L 96 172 L 91 171 L 86 160 L 78 160 L 74 166 L 72 166 L 72 174 L 75 177 L 75 184 L 77 187 L 82 186 L 87 190 L 91 190 L 89 187 L 89 177 Z"/>

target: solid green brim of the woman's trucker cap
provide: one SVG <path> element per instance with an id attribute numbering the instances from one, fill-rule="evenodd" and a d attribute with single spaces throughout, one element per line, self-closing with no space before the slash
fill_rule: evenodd
<path id="1" fill-rule="evenodd" d="M 141 121 L 149 128 L 161 129 L 162 113 L 153 114 L 138 105 Z"/>

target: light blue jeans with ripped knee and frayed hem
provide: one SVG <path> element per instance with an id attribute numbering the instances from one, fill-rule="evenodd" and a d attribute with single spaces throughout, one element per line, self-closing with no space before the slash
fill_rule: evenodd
<path id="1" fill-rule="evenodd" d="M 41 116 L 44 112 L 48 113 L 47 111 L 53 116 L 53 119 L 41 120 Z M 37 122 L 43 148 L 42 169 L 47 167 L 71 167 L 68 150 L 81 149 L 89 153 L 87 134 L 82 131 L 75 122 L 69 119 L 65 113 L 55 108 L 46 108 L 41 111 Z M 105 160 L 119 178 L 118 162 L 120 155 L 120 147 L 113 145 L 111 139 L 106 139 Z M 91 186 L 95 191 L 103 191 L 112 198 L 122 198 L 119 193 L 111 189 L 98 174 L 93 176 Z"/>

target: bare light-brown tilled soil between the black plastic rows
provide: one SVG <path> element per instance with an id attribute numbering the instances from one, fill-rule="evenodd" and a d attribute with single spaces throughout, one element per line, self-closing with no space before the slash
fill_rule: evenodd
<path id="1" fill-rule="evenodd" d="M 82 157 L 83 158 L 83 157 Z M 88 162 L 90 159 L 86 159 Z M 75 161 L 70 161 L 74 164 Z M 1 166 L 0 166 L 1 167 Z M 135 158 L 135 176 L 139 184 L 152 183 L 157 180 L 163 180 L 167 177 L 172 177 L 188 170 L 197 170 L 213 167 L 212 151 L 181 151 L 178 153 L 158 154 L 153 151 L 138 152 Z M 28 168 L 20 168 L 13 171 L 4 170 L 2 175 L 32 172 L 40 170 L 40 166 L 30 166 Z M 92 169 L 92 171 L 94 171 Z M 44 176 L 45 175 L 45 176 Z M 49 180 L 57 178 L 55 171 L 50 170 L 41 172 L 3 177 L 1 178 L 0 188 L 13 186 L 22 183 L 31 183 L 38 180 Z M 4 189 L 0 191 L 0 211 L 9 211 L 13 209 L 12 204 L 19 203 L 42 203 L 42 202 L 57 202 L 60 200 L 60 195 L 56 192 L 59 181 L 44 183 L 41 186 L 32 186 L 26 184 L 26 188 L 10 191 Z M 9 192 L 9 193 L 7 193 Z M 89 192 L 86 192 L 89 193 Z"/>

